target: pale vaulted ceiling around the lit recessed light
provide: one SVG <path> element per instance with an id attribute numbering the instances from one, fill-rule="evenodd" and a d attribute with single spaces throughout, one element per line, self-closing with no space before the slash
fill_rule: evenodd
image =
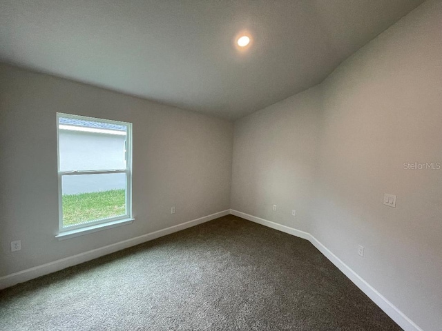
<path id="1" fill-rule="evenodd" d="M 320 83 L 422 2 L 0 0 L 0 61 L 238 119 Z"/>

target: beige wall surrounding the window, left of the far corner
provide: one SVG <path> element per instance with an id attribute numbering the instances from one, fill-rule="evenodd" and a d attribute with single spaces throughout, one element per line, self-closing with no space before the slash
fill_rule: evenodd
<path id="1" fill-rule="evenodd" d="M 133 123 L 133 224 L 55 239 L 56 112 Z M 228 121 L 0 65 L 0 276 L 229 209 L 232 132 Z"/>

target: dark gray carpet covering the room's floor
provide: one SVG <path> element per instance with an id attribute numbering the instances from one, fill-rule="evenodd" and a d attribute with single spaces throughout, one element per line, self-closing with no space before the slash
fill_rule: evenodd
<path id="1" fill-rule="evenodd" d="M 401 330 L 309 241 L 229 215 L 0 292 L 1 330 Z"/>

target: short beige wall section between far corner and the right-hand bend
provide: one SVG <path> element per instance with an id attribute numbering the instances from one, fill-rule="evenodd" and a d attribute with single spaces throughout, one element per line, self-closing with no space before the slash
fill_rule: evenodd
<path id="1" fill-rule="evenodd" d="M 319 92 L 311 88 L 235 122 L 233 210 L 309 232 Z"/>

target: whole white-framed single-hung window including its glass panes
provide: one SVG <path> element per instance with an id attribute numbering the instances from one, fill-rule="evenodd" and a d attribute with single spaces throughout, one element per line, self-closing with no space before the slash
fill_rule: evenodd
<path id="1" fill-rule="evenodd" d="M 133 221 L 131 137 L 131 123 L 57 113 L 57 237 Z"/>

